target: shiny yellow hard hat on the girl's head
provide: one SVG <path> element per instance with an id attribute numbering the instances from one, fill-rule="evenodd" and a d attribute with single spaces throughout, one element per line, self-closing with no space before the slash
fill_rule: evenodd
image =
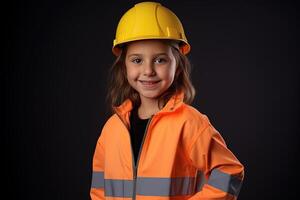
<path id="1" fill-rule="evenodd" d="M 119 55 L 122 44 L 145 39 L 178 41 L 183 54 L 187 54 L 191 48 L 178 17 L 156 2 L 138 3 L 122 16 L 112 51 L 115 55 Z"/>

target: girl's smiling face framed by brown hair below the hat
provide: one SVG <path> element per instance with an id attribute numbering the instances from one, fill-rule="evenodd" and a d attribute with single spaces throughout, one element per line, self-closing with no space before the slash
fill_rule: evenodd
<path id="1" fill-rule="evenodd" d="M 160 40 L 141 40 L 127 46 L 127 80 L 143 99 L 157 99 L 173 83 L 176 60 L 172 49 Z"/>

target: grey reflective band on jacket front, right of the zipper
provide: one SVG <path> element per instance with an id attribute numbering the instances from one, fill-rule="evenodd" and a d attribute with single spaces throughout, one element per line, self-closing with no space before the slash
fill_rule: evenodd
<path id="1" fill-rule="evenodd" d="M 137 178 L 136 193 L 144 196 L 191 195 L 195 193 L 195 178 Z"/>

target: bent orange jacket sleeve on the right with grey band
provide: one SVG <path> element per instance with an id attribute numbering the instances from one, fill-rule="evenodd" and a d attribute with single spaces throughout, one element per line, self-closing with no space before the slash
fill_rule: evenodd
<path id="1" fill-rule="evenodd" d="M 197 193 L 190 200 L 237 199 L 244 178 L 243 165 L 211 124 L 199 132 L 189 151 L 198 169 Z"/>

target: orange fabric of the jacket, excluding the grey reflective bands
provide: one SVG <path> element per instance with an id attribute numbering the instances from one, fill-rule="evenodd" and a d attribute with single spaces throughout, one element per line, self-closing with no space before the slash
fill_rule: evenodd
<path id="1" fill-rule="evenodd" d="M 127 100 L 104 125 L 93 158 L 93 171 L 104 172 L 105 179 L 133 180 L 134 168 L 130 142 L 129 116 L 132 103 Z M 183 103 L 183 94 L 174 95 L 156 113 L 148 126 L 138 161 L 138 177 L 195 177 L 197 170 L 206 179 L 213 169 L 244 177 L 244 167 L 227 148 L 209 119 Z M 137 199 L 178 199 L 137 195 Z M 103 189 L 91 189 L 91 198 L 104 198 Z M 127 198 L 126 198 L 127 199 Z M 179 198 L 180 199 L 180 198 Z M 231 194 L 204 184 L 193 196 L 181 199 L 231 200 Z"/>

